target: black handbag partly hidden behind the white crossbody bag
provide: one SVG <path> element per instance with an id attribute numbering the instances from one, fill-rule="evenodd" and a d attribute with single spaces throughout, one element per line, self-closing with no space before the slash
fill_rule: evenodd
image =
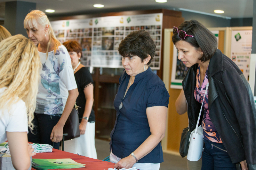
<path id="1" fill-rule="evenodd" d="M 184 158 L 188 155 L 188 147 L 189 147 L 189 137 L 191 132 L 189 128 L 183 129 L 181 133 L 181 140 L 180 140 L 180 156 Z"/>

